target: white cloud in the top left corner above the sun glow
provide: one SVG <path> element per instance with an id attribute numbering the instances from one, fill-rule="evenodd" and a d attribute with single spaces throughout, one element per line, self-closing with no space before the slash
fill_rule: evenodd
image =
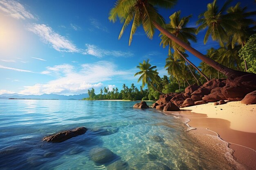
<path id="1" fill-rule="evenodd" d="M 0 10 L 16 19 L 36 19 L 22 4 L 14 0 L 0 0 Z"/>

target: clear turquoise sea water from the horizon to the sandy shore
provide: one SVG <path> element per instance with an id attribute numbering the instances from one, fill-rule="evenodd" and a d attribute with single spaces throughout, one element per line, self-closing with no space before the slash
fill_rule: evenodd
<path id="1" fill-rule="evenodd" d="M 209 157 L 178 119 L 152 108 L 132 108 L 135 103 L 0 100 L 0 169 L 104 170 L 115 161 L 130 170 L 233 169 Z M 81 126 L 88 128 L 84 135 L 62 143 L 42 141 Z M 115 159 L 94 163 L 90 150 L 95 147 L 108 148 Z"/>

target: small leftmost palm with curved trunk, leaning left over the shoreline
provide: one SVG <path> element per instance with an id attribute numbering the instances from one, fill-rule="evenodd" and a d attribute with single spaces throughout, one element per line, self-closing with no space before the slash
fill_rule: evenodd
<path id="1" fill-rule="evenodd" d="M 164 95 L 164 93 L 159 91 L 153 84 L 157 82 L 157 79 L 159 77 L 157 71 L 153 70 L 156 67 L 157 66 L 151 66 L 151 64 L 149 64 L 149 59 L 147 61 L 144 60 L 143 63 L 139 63 L 139 66 L 137 66 L 137 68 L 139 68 L 141 71 L 139 71 L 138 73 L 135 73 L 134 76 L 141 75 L 138 79 L 138 82 L 140 81 L 142 82 L 142 88 L 146 84 L 148 84 L 148 85 L 151 85 L 156 91 Z"/>

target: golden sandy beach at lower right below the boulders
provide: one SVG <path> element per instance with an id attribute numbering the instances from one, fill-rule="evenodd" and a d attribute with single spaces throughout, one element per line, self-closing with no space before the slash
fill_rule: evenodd
<path id="1" fill-rule="evenodd" d="M 214 106 L 208 103 L 182 108 L 171 114 L 196 128 L 189 132 L 191 135 L 219 136 L 229 143 L 229 148 L 234 150 L 232 155 L 239 163 L 246 169 L 256 169 L 256 105 L 228 102 Z M 206 135 L 200 138 L 207 141 Z"/>

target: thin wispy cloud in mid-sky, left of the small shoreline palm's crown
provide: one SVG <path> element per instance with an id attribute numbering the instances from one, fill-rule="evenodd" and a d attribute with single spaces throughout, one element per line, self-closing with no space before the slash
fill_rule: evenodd
<path id="1" fill-rule="evenodd" d="M 104 50 L 100 49 L 99 47 L 93 44 L 85 44 L 85 52 L 83 55 L 93 55 L 95 57 L 104 57 L 106 55 L 114 56 L 114 57 L 132 57 L 134 54 L 130 52 L 123 52 L 123 51 L 115 51 L 115 50 Z"/>

